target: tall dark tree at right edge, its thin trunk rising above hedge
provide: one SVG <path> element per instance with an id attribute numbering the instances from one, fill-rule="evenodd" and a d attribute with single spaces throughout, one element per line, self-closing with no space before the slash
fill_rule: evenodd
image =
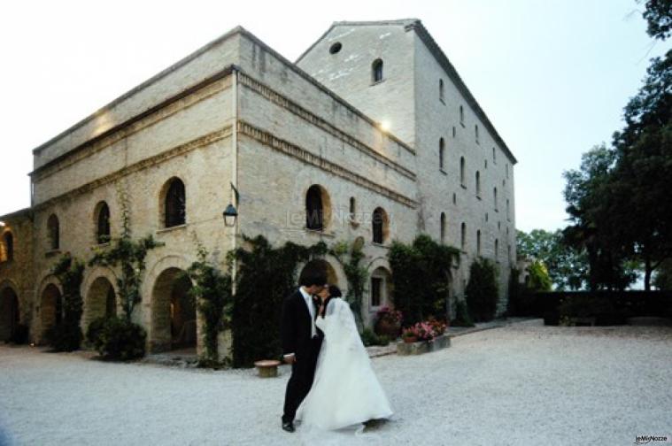
<path id="1" fill-rule="evenodd" d="M 672 50 L 654 58 L 637 96 L 624 109 L 626 126 L 614 134 L 617 161 L 603 205 L 608 233 L 645 270 L 672 258 Z"/>

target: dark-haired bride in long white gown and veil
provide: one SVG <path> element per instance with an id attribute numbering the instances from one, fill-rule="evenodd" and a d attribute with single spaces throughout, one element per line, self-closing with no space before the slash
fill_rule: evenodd
<path id="1" fill-rule="evenodd" d="M 315 325 L 324 332 L 313 387 L 297 411 L 304 426 L 320 430 L 351 427 L 392 415 L 375 377 L 354 316 L 334 285 L 321 293 Z"/>

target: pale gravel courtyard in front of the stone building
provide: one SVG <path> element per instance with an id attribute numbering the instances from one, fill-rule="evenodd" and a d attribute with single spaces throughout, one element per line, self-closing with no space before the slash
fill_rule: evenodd
<path id="1" fill-rule="evenodd" d="M 396 414 L 363 437 L 339 433 L 339 444 L 626 445 L 672 434 L 670 327 L 519 324 L 373 364 Z M 280 428 L 288 372 L 262 380 L 0 346 L 0 444 L 314 443 L 300 426 Z"/>

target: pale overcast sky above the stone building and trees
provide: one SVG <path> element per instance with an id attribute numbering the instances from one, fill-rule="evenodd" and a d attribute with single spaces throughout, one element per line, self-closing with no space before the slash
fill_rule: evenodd
<path id="1" fill-rule="evenodd" d="M 649 58 L 634 0 L 6 2 L 0 215 L 30 205 L 31 150 L 242 25 L 295 60 L 332 21 L 421 19 L 518 158 L 518 227 L 566 225 L 562 172 L 609 142 Z"/>

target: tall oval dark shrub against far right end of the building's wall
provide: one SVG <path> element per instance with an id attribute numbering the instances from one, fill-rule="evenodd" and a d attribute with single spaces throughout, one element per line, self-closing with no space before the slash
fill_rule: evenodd
<path id="1" fill-rule="evenodd" d="M 499 295 L 497 271 L 487 258 L 478 258 L 471 264 L 466 295 L 469 313 L 476 322 L 494 319 Z"/>

